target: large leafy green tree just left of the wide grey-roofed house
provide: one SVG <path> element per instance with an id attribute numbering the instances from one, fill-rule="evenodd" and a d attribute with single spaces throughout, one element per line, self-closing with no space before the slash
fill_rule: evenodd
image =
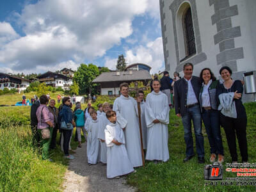
<path id="1" fill-rule="evenodd" d="M 74 73 L 73 80 L 79 86 L 79 94 L 97 93 L 97 84 L 92 83 L 95 77 L 99 76 L 99 68 L 96 65 L 90 63 L 89 65 L 81 64 Z"/>

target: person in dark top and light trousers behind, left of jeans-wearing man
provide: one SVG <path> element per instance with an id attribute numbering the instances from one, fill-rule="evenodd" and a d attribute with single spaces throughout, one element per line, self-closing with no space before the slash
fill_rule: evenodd
<path id="1" fill-rule="evenodd" d="M 163 92 L 168 98 L 168 105 L 172 106 L 171 91 L 172 91 L 172 81 L 173 79 L 169 76 L 168 71 L 164 71 L 164 76 L 161 78 L 161 92 Z"/>

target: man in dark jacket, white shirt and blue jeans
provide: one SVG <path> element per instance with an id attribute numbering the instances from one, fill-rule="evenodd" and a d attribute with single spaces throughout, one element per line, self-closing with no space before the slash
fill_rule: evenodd
<path id="1" fill-rule="evenodd" d="M 198 98 L 201 88 L 200 78 L 192 76 L 192 63 L 186 63 L 183 67 L 183 72 L 184 77 L 174 83 L 175 113 L 182 118 L 186 143 L 186 158 L 183 161 L 189 161 L 189 159 L 195 156 L 191 131 L 191 120 L 193 120 L 198 163 L 204 163 L 204 136 L 202 134 L 202 120 Z"/>

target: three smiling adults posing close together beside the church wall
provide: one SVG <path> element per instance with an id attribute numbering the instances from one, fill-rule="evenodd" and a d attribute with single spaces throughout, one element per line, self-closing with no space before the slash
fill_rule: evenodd
<path id="1" fill-rule="evenodd" d="M 232 79 L 232 70 L 229 67 L 220 68 L 223 81 L 216 80 L 210 68 L 204 68 L 200 72 L 200 77 L 192 76 L 193 65 L 191 63 L 184 65 L 183 72 L 184 77 L 174 83 L 175 113 L 182 118 L 186 143 L 186 158 L 183 161 L 189 161 L 195 156 L 191 131 L 191 122 L 193 122 L 198 163 L 205 162 L 203 120 L 211 148 L 211 162 L 214 162 L 217 156 L 218 163 L 224 161 L 221 125 L 225 130 L 232 163 L 237 163 L 238 160 L 236 138 L 242 162 L 247 163 L 247 118 L 241 101 L 242 82 Z"/>

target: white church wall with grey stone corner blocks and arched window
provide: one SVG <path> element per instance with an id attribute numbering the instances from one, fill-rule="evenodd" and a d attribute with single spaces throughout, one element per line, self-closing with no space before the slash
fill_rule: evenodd
<path id="1" fill-rule="evenodd" d="M 180 72 L 193 63 L 219 76 L 230 67 L 234 79 L 256 70 L 255 0 L 160 0 L 165 69 Z"/>

